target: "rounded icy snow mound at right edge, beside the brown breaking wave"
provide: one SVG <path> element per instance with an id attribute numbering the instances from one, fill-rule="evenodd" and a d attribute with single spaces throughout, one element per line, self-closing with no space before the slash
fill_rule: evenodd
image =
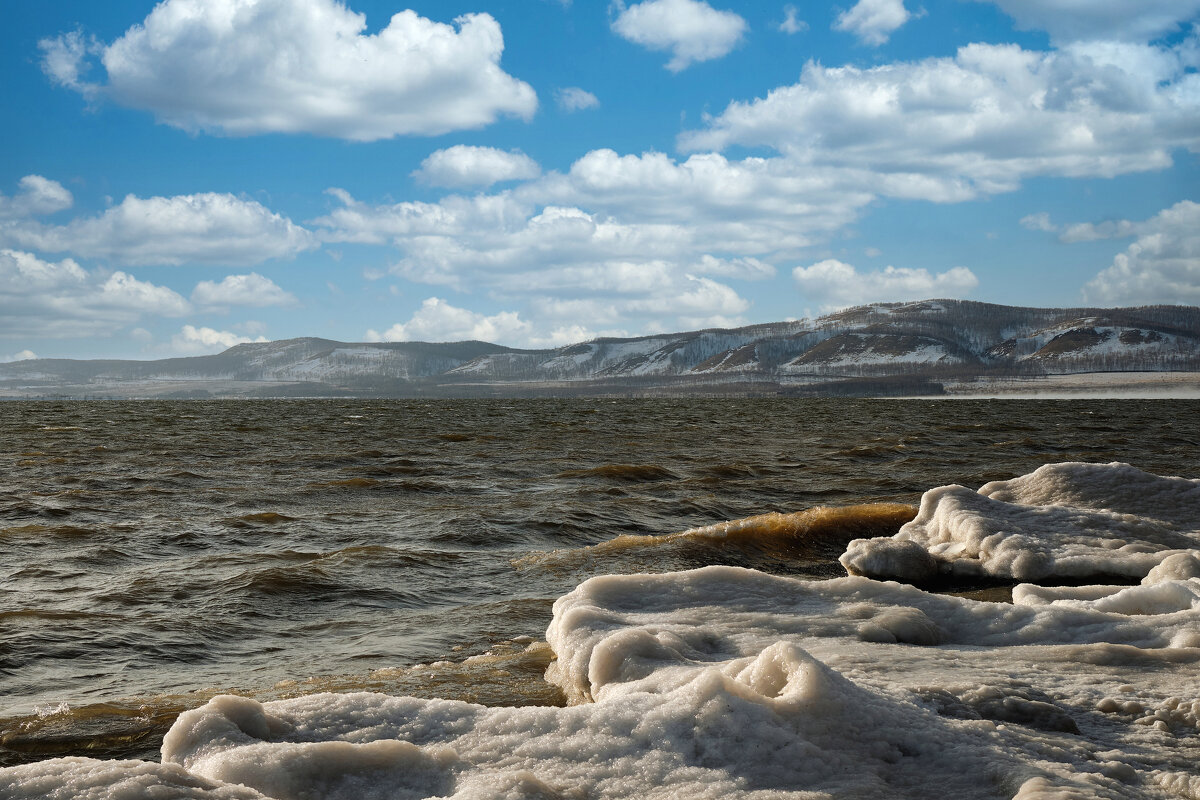
<path id="1" fill-rule="evenodd" d="M 925 492 L 893 537 L 852 541 L 851 575 L 926 582 L 952 576 L 1016 581 L 1140 578 L 1200 548 L 1200 481 L 1129 464 L 1046 464 L 978 492 Z"/>

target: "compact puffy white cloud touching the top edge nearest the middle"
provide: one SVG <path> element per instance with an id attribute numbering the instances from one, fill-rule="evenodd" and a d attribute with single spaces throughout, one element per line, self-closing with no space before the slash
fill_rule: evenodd
<path id="1" fill-rule="evenodd" d="M 726 55 L 749 28 L 732 11 L 718 11 L 702 0 L 647 0 L 628 8 L 618 0 L 617 7 L 613 31 L 648 49 L 670 50 L 671 72 Z"/>

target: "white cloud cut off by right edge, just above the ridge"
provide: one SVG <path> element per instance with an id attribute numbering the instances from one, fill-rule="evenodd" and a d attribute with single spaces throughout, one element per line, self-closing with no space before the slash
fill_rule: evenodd
<path id="1" fill-rule="evenodd" d="M 1084 287 L 1086 302 L 1200 303 L 1200 204 L 1184 200 L 1145 222 L 1108 223 L 1094 233 L 1136 240 Z"/>

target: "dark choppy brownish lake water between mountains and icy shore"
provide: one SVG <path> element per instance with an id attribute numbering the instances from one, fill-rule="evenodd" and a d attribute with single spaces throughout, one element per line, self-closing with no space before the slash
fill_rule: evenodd
<path id="1" fill-rule="evenodd" d="M 5 765 L 152 757 L 216 691 L 556 703 L 523 637 L 578 581 L 840 573 L 906 510 L 637 536 L 1048 462 L 1196 476 L 1200 402 L 10 402 L 0 445 Z"/>

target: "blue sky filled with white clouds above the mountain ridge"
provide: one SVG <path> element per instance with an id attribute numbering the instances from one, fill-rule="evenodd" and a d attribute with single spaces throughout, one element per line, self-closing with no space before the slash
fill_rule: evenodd
<path id="1" fill-rule="evenodd" d="M 49 0 L 0 361 L 1200 305 L 1200 0 Z"/>

